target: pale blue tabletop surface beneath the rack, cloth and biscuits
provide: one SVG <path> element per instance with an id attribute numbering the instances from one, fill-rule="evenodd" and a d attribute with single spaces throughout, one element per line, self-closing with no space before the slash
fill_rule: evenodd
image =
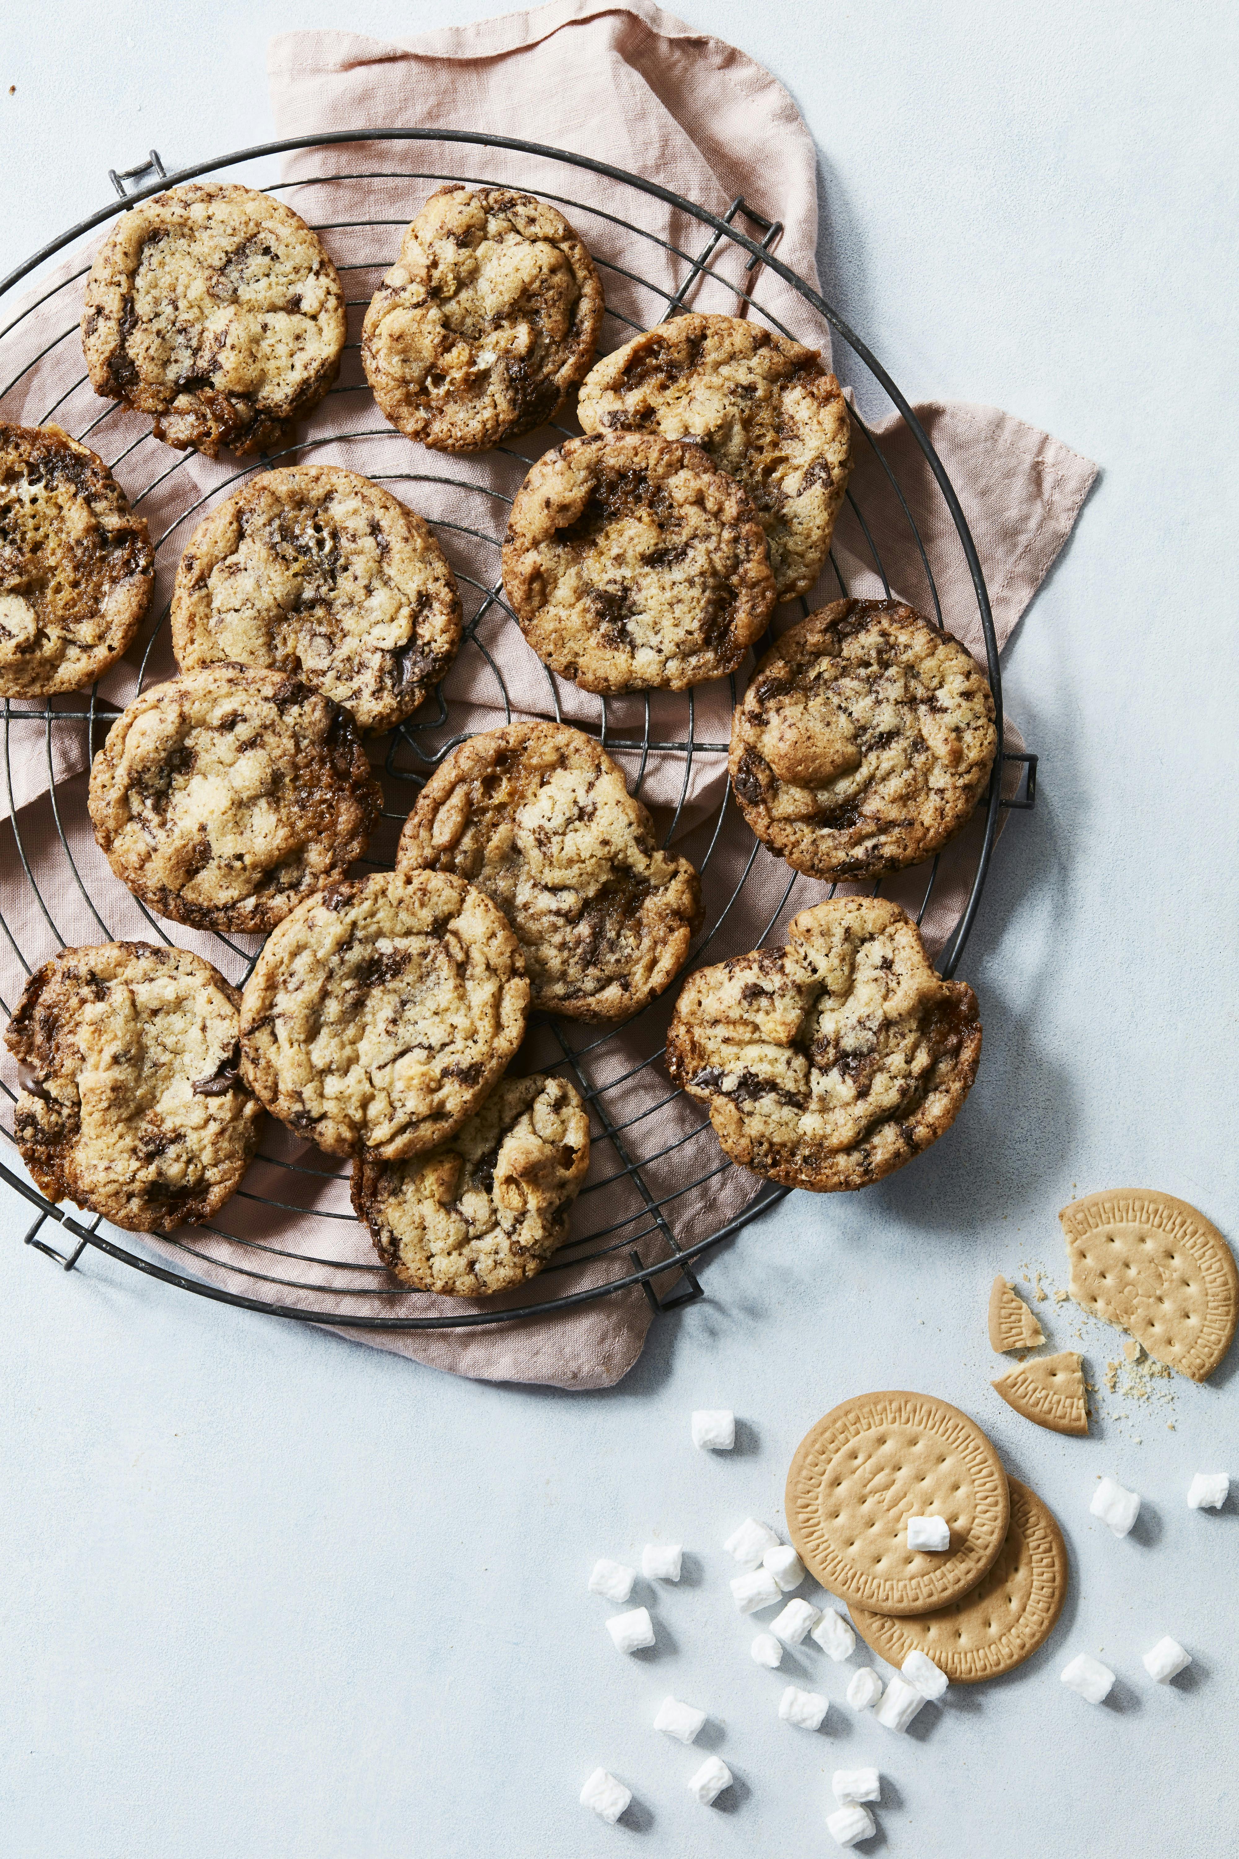
<path id="1" fill-rule="evenodd" d="M 827 186 L 827 290 L 899 385 L 988 400 L 1103 468 L 1007 653 L 1042 755 L 964 974 L 985 1060 L 953 1134 L 854 1197 L 797 1195 L 706 1272 L 607 1394 L 494 1389 L 20 1246 L 4 1201 L 0 1850 L 9 1859 L 396 1859 L 834 1852 L 830 1772 L 875 1762 L 908 1859 L 1157 1859 L 1239 1846 L 1239 1351 L 1146 1405 L 1102 1391 L 1089 1441 L 999 1404 L 996 1270 L 1064 1283 L 1072 1193 L 1154 1184 L 1235 1218 L 1235 11 L 698 0 L 795 91 Z M 355 0 L 9 0 L 0 35 L 7 270 L 102 204 L 106 169 L 269 134 L 264 39 L 411 33 L 483 7 Z M 9 84 L 17 95 L 7 97 Z M 1038 1305 L 1094 1379 L 1118 1331 Z M 1076 1327 L 1081 1338 L 1076 1340 Z M 830 1712 L 776 1720 L 784 1673 L 726 1591 L 721 1539 L 782 1523 L 808 1424 L 871 1387 L 970 1409 L 1053 1506 L 1072 1593 L 1018 1675 L 892 1736 L 825 1655 Z M 741 1450 L 689 1444 L 732 1405 Z M 1148 1411 L 1146 1411 L 1148 1409 Z M 1128 1415 L 1128 1418 L 1120 1418 Z M 1174 1422 L 1174 1431 L 1168 1430 Z M 1144 1496 L 1089 1517 L 1102 1472 Z M 652 1655 L 615 1653 L 594 1556 L 682 1539 Z M 648 1591 L 633 1599 L 646 1601 Z M 1191 1671 L 1152 1684 L 1161 1634 Z M 1057 1673 L 1118 1673 L 1090 1708 Z M 808 1677 L 799 1677 L 795 1668 Z M 672 1692 L 739 1779 L 650 1729 Z M 578 1807 L 596 1764 L 639 1813 Z"/>

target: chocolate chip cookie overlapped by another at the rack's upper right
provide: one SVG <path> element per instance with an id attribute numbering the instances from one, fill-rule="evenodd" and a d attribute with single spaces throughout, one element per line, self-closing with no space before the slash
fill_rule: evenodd
<path id="1" fill-rule="evenodd" d="M 591 368 L 587 433 L 695 439 L 745 487 L 778 600 L 808 593 L 830 552 L 851 474 L 851 420 L 817 349 L 739 316 L 676 316 Z"/>

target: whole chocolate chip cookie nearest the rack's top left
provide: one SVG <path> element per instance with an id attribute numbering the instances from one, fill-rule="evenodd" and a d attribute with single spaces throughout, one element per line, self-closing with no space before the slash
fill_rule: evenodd
<path id="1" fill-rule="evenodd" d="M 121 214 L 85 281 L 91 387 L 154 415 L 154 437 L 262 452 L 340 372 L 344 292 L 292 206 L 193 182 Z"/>

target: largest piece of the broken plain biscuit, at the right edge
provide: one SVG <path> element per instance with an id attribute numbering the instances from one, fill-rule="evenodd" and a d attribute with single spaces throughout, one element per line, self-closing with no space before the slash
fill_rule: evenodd
<path id="1" fill-rule="evenodd" d="M 1087 1193 L 1059 1221 L 1076 1303 L 1129 1329 L 1181 1376 L 1211 1376 L 1239 1314 L 1239 1272 L 1217 1227 L 1187 1201 L 1152 1188 Z"/>

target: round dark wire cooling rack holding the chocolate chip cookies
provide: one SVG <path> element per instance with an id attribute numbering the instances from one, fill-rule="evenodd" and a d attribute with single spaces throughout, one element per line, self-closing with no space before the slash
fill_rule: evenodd
<path id="1" fill-rule="evenodd" d="M 440 164 L 459 156 L 459 171 L 422 167 L 416 162 L 420 143 L 433 143 Z M 405 165 L 388 160 L 392 149 L 403 156 Z M 1033 805 L 1037 757 L 1003 751 L 1001 673 L 985 576 L 942 461 L 866 344 L 817 290 L 780 262 L 776 245 L 782 227 L 763 219 L 743 199 L 736 199 L 724 214 L 713 214 L 656 182 L 589 156 L 468 130 L 392 128 L 366 130 L 364 139 L 355 132 L 295 138 L 243 149 L 173 175 L 165 173 L 152 151 L 147 164 L 121 175 L 111 171 L 117 199 L 110 206 L 72 227 L 0 283 L 0 305 L 11 301 L 13 288 L 35 268 L 134 201 L 202 175 L 253 171 L 253 164 L 269 164 L 275 156 L 292 158 L 293 178 L 258 182 L 247 175 L 247 184 L 264 184 L 269 193 L 295 197 L 297 210 L 327 244 L 349 297 L 349 342 L 342 377 L 305 422 L 295 444 L 240 467 L 210 467 L 193 452 L 173 454 L 160 444 L 150 435 L 149 420 L 111 402 L 98 402 L 80 361 L 69 366 L 69 357 L 76 355 L 72 344 L 89 262 L 71 264 L 67 275 L 58 275 L 0 329 L 0 416 L 17 418 L 9 409 L 19 394 L 24 424 L 56 420 L 100 452 L 134 508 L 150 521 L 160 595 L 165 595 L 176 560 L 204 509 L 253 472 L 273 465 L 303 463 L 308 457 L 353 463 L 366 476 L 388 483 L 431 522 L 461 586 L 464 638 L 457 664 L 433 699 L 377 744 L 385 816 L 370 848 L 373 857 L 364 863 L 390 866 L 399 824 L 425 777 L 451 747 L 477 727 L 496 727 L 524 714 L 563 719 L 598 736 L 624 768 L 630 788 L 654 812 L 663 844 L 674 838 L 676 850 L 685 851 L 700 870 L 706 924 L 684 974 L 702 961 L 762 946 L 795 909 L 821 902 L 836 889 L 789 872 L 752 837 L 730 799 L 726 747 L 730 708 L 739 695 L 736 679 L 728 680 L 726 690 L 708 686 L 685 693 L 589 697 L 537 664 L 524 645 L 503 602 L 498 567 L 505 513 L 533 455 L 544 444 L 570 437 L 574 428 L 548 428 L 524 439 L 520 448 L 500 446 L 481 455 L 481 461 L 459 459 L 427 454 L 388 428 L 373 407 L 359 366 L 359 323 L 383 271 L 392 264 L 401 229 L 433 186 L 457 180 L 483 186 L 516 182 L 561 206 L 585 238 L 607 294 L 604 348 L 678 314 L 689 301 L 695 309 L 752 314 L 788 335 L 791 331 L 769 303 L 782 288 L 784 299 L 788 292 L 793 294 L 789 301 L 799 312 L 797 322 L 804 323 L 808 316 L 810 340 L 812 329 L 819 329 L 821 336 L 832 333 L 864 364 L 912 431 L 942 498 L 949 534 L 968 565 L 975 615 L 966 617 L 973 626 L 979 619 L 999 721 L 996 777 L 955 851 L 951 883 L 960 903 L 938 954 L 942 974 L 951 976 L 975 920 L 999 809 Z M 502 177 L 472 173 L 487 164 L 498 164 Z M 581 197 L 591 190 L 593 199 Z M 604 199 L 606 206 L 600 204 Z M 628 210 L 619 212 L 619 203 Z M 646 253 L 648 264 L 635 268 L 633 249 Z M 801 338 L 804 333 L 804 327 L 797 329 Z M 52 398 L 46 405 L 37 400 L 43 379 L 50 383 Z M 875 467 L 869 483 L 877 483 L 884 508 L 866 511 L 853 491 L 847 493 L 851 534 L 860 550 L 858 558 L 847 560 L 860 561 L 866 587 L 877 591 L 880 584 L 890 595 L 875 537 L 890 534 L 892 522 L 903 524 L 905 541 L 906 535 L 912 537 L 916 560 L 923 567 L 934 623 L 953 623 L 959 628 L 964 619 L 944 613 L 933 548 L 923 537 L 927 526 L 923 521 L 918 526 L 914 500 L 905 494 L 871 424 L 854 411 L 853 424 L 854 446 Z M 379 461 L 375 452 L 381 454 Z M 375 468 L 375 463 L 386 468 Z M 836 597 L 836 586 L 841 595 L 858 587 L 856 569 L 845 574 L 840 548 L 830 554 L 830 582 L 825 599 Z M 801 602 L 801 610 L 808 612 L 808 602 Z M 763 645 L 758 654 L 762 651 Z M 137 688 L 173 671 L 169 606 L 167 599 L 156 597 L 152 619 L 139 641 Z M 108 680 L 104 686 L 111 690 Z M 111 690 L 111 695 L 95 686 L 85 701 L 4 701 L 7 822 L 0 831 L 11 840 L 0 857 L 0 974 L 6 976 L 0 1008 L 6 1013 L 11 1011 L 24 976 L 67 943 L 119 937 L 171 943 L 169 931 L 175 931 L 182 946 L 199 948 L 238 985 L 256 959 L 258 939 L 195 935 L 163 924 L 124 890 L 95 850 L 84 811 L 85 771 L 111 716 L 132 695 L 130 679 L 128 688 Z M 1025 771 L 1016 781 L 1016 786 L 1024 784 L 1024 798 L 1016 798 L 1012 783 L 1003 783 L 998 775 L 1011 762 L 1024 764 Z M 959 848 L 964 840 L 960 874 Z M 918 924 L 925 922 L 931 903 L 942 894 L 942 857 L 925 870 L 897 874 L 901 902 Z M 882 881 L 866 889 L 877 894 Z M 568 1244 L 541 1277 L 520 1292 L 502 1294 L 485 1305 L 396 1286 L 377 1264 L 366 1231 L 353 1218 L 347 1173 L 340 1171 L 340 1162 L 293 1141 L 273 1119 L 267 1121 L 258 1160 L 223 1208 L 221 1221 L 228 1223 L 150 1236 L 150 1251 L 162 1257 L 119 1244 L 102 1231 L 100 1220 L 84 1225 L 4 1164 L 0 1179 L 37 1210 L 26 1244 L 65 1270 L 76 1266 L 85 1247 L 95 1247 L 199 1296 L 301 1322 L 362 1333 L 511 1324 L 574 1309 L 633 1286 L 641 1286 L 656 1311 L 667 1311 L 702 1296 L 693 1270 L 702 1253 L 788 1192 L 737 1169 L 721 1153 L 700 1106 L 669 1088 L 659 1060 L 678 985 L 667 993 L 669 998 L 654 1002 L 619 1028 L 535 1017 L 520 1054 L 520 1069 L 572 1076 L 591 1110 L 591 1175 L 572 1210 Z M 0 1091 L 11 1112 L 15 1091 L 4 1078 Z M 13 1141 L 2 1125 L 0 1134 Z M 58 1221 L 65 1229 L 69 1249 L 59 1251 L 41 1236 L 46 1221 Z"/>

